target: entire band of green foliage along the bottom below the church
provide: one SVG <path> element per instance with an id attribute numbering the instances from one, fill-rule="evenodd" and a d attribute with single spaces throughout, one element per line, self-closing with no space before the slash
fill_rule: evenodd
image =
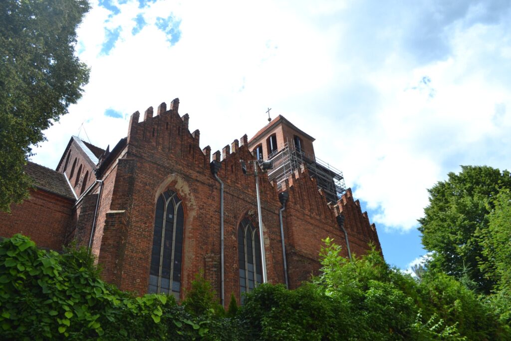
<path id="1" fill-rule="evenodd" d="M 326 240 L 322 275 L 296 290 L 263 284 L 224 317 L 211 286 L 196 277 L 183 305 L 172 296 L 133 297 L 99 279 L 81 250 L 62 255 L 15 235 L 0 243 L 2 339 L 172 340 L 507 340 L 493 305 L 452 277 L 422 280 L 372 251 L 353 261 Z M 499 301 L 500 300 L 500 301 Z M 492 305 L 493 304 L 493 305 Z"/>

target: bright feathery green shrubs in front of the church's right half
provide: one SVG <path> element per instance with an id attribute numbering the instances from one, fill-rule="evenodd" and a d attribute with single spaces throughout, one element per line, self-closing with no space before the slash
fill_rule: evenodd
<path id="1" fill-rule="evenodd" d="M 262 340 L 507 340 L 509 329 L 473 291 L 447 275 L 421 282 L 372 251 L 350 262 L 332 240 L 322 275 L 296 290 L 260 285 L 238 316 Z"/>

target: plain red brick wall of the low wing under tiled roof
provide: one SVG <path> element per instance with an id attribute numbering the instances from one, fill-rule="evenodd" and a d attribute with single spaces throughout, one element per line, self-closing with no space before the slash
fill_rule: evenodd
<path id="1" fill-rule="evenodd" d="M 0 236 L 29 236 L 39 247 L 61 250 L 72 220 L 73 200 L 43 190 L 30 191 L 30 199 L 0 212 Z"/>

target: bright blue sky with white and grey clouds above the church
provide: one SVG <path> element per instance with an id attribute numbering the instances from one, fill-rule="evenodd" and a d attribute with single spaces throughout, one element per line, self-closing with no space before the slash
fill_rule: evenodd
<path id="1" fill-rule="evenodd" d="M 201 148 L 283 115 L 316 139 L 377 227 L 386 261 L 426 254 L 427 189 L 460 165 L 509 169 L 511 2 L 97 0 L 78 29 L 82 99 L 32 160 L 71 135 L 102 148 L 131 113 L 179 98 Z"/>

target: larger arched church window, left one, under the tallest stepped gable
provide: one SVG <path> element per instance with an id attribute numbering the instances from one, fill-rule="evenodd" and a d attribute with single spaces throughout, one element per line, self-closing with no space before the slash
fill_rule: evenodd
<path id="1" fill-rule="evenodd" d="M 183 250 L 184 212 L 177 193 L 168 190 L 156 202 L 153 248 L 149 273 L 151 292 L 172 294 L 179 299 L 181 292 L 181 260 Z"/>

